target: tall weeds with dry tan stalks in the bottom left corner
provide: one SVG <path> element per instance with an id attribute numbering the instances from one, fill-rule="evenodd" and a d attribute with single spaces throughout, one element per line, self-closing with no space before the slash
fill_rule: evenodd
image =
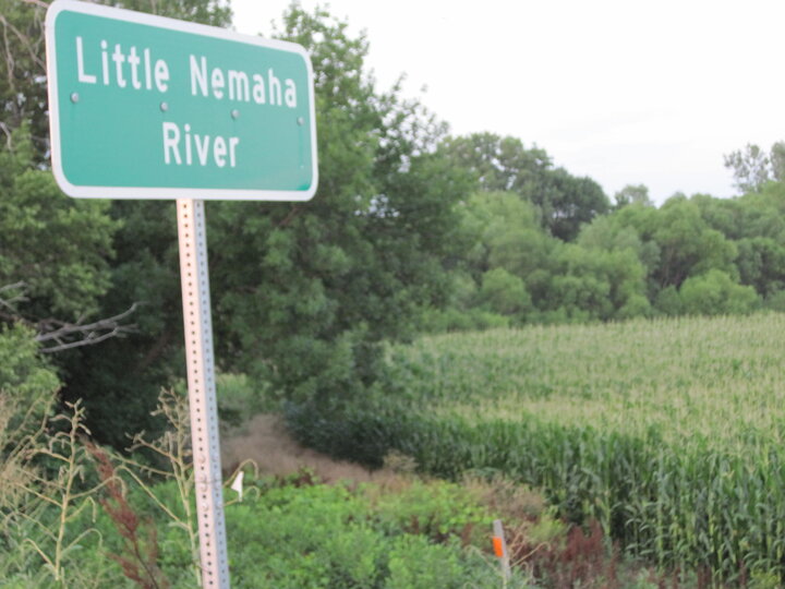
<path id="1" fill-rule="evenodd" d="M 9 411 L 20 419 L 15 428 L 0 428 L 0 582 L 100 587 L 102 566 L 81 557 L 85 544 L 95 551 L 102 545 L 89 519 L 96 486 L 86 481 L 84 409 L 69 405 L 67 412 L 40 419 L 5 400 L 0 396 L 0 425 L 8 424 Z"/>

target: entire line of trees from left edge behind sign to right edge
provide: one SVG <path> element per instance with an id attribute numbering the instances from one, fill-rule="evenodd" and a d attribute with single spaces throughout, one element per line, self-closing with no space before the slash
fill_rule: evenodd
<path id="1" fill-rule="evenodd" d="M 219 0 L 152 5 L 231 17 Z M 61 399 L 83 398 L 94 435 L 122 447 L 125 432 L 156 429 L 158 392 L 182 375 L 174 207 L 59 191 L 44 9 L 0 0 L 0 13 L 14 38 L 0 60 L 0 338 L 37 339 Z M 785 305 L 782 183 L 748 175 L 754 190 L 739 199 L 659 208 L 632 187 L 612 204 L 543 149 L 450 137 L 399 86 L 379 91 L 366 39 L 326 11 L 293 4 L 276 36 L 312 56 L 319 189 L 310 203 L 208 203 L 219 370 L 281 398 L 341 399 L 373 384 L 385 341 L 423 330 Z M 0 366 L 19 349 L 0 346 Z"/>

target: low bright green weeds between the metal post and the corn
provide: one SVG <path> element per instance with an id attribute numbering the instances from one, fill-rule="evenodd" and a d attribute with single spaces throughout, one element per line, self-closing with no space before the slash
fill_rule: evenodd
<path id="1" fill-rule="evenodd" d="M 486 550 L 487 531 L 476 536 L 473 552 L 461 544 L 467 526 L 490 530 L 490 516 L 458 485 L 256 484 L 258 500 L 227 508 L 230 565 L 243 572 L 238 587 L 498 586 L 479 551 Z M 517 573 L 510 587 L 522 586 Z"/>

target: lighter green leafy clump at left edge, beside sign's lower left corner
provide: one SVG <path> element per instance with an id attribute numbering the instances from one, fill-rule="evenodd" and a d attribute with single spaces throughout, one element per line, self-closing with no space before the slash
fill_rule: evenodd
<path id="1" fill-rule="evenodd" d="M 24 283 L 25 313 L 37 318 L 94 314 L 119 224 L 107 202 L 68 199 L 36 169 L 26 125 L 10 141 L 13 151 L 0 149 L 0 286 Z"/>

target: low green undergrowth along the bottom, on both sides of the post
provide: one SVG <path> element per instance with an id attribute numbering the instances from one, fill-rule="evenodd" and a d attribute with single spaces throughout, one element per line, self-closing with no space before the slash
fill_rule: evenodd
<path id="1" fill-rule="evenodd" d="M 143 586 L 193 587 L 198 563 L 188 534 L 182 526 L 167 526 L 169 518 L 160 510 L 164 505 L 181 512 L 176 483 L 150 491 L 156 502 L 132 486 L 124 508 L 125 519 L 140 522 L 142 550 L 154 555 L 147 564 L 154 577 L 146 578 L 158 585 Z M 307 472 L 288 480 L 252 478 L 246 479 L 243 502 L 227 505 L 226 522 L 232 587 L 460 589 L 470 584 L 491 589 L 500 585 L 497 564 L 488 553 L 491 514 L 470 491 L 450 483 L 400 479 L 391 488 L 367 484 L 351 490 L 321 484 Z M 78 514 L 65 530 L 68 543 L 81 537 L 77 554 L 63 562 L 59 577 L 41 567 L 34 551 L 15 543 L 21 539 L 13 528 L 3 530 L 0 539 L 13 544 L 3 550 L 16 550 L 24 557 L 0 560 L 0 584 L 25 589 L 51 587 L 52 581 L 58 587 L 130 587 L 125 577 L 141 563 L 117 526 L 102 510 Z M 81 536 L 85 530 L 90 533 Z M 35 527 L 27 533 L 33 542 L 40 541 Z M 528 587 L 527 578 L 518 570 L 507 587 Z"/>

